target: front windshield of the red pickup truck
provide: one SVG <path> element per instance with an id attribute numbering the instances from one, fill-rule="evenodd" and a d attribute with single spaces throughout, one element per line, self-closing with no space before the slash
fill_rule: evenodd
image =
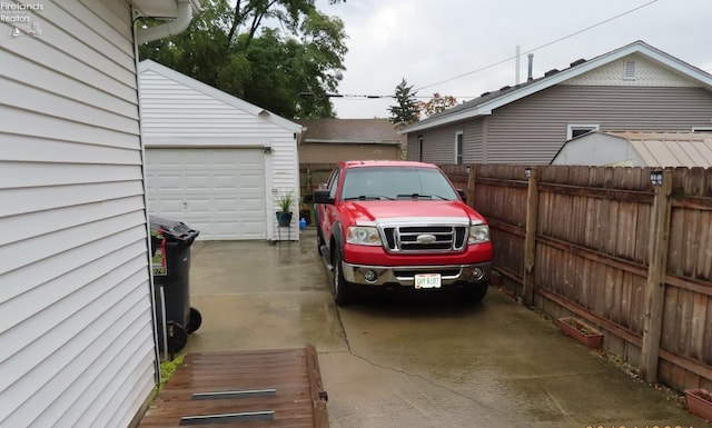
<path id="1" fill-rule="evenodd" d="M 344 176 L 343 200 L 456 200 L 457 193 L 438 169 L 353 168 Z"/>

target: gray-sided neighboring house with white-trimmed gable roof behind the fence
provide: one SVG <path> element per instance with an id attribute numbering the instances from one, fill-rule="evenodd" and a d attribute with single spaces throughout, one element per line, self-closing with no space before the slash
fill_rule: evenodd
<path id="1" fill-rule="evenodd" d="M 712 127 L 712 76 L 642 41 L 570 66 L 405 127 L 408 159 L 548 163 L 592 130 Z"/>

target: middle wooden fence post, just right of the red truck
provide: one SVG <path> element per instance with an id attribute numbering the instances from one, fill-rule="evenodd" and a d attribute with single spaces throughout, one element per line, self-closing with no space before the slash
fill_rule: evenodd
<path id="1" fill-rule="evenodd" d="M 526 168 L 528 189 L 526 196 L 526 233 L 524 236 L 524 283 L 522 302 L 534 303 L 534 263 L 536 256 L 536 223 L 538 219 L 538 168 Z"/>

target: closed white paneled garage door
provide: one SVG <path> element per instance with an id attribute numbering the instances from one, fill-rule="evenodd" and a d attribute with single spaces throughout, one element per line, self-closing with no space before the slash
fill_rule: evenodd
<path id="1" fill-rule="evenodd" d="M 147 149 L 148 209 L 198 239 L 266 239 L 260 149 Z"/>

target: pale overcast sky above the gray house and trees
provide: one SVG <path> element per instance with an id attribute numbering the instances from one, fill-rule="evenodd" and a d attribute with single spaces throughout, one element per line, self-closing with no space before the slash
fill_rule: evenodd
<path id="1" fill-rule="evenodd" d="M 517 46 L 520 81 L 526 80 L 532 50 L 536 78 L 636 40 L 712 72 L 712 0 L 347 0 L 336 6 L 318 0 L 317 6 L 346 24 L 347 70 L 338 92 L 357 97 L 333 99 L 343 119 L 387 118 L 393 98 L 363 96 L 393 96 L 402 78 L 424 100 L 439 92 L 458 102 L 514 84 L 514 59 L 487 67 L 514 58 Z M 558 39 L 564 40 L 554 42 Z"/>

